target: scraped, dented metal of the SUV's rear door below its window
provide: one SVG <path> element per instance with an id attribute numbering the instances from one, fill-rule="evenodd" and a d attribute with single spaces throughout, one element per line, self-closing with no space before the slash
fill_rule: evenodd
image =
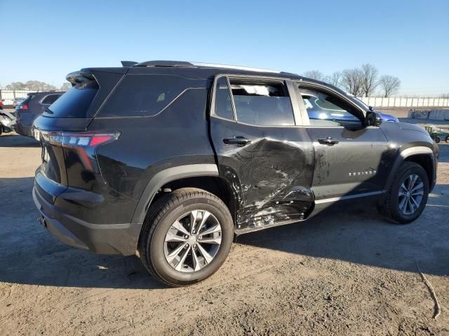
<path id="1" fill-rule="evenodd" d="M 236 224 L 264 228 L 300 221 L 313 204 L 314 148 L 302 127 L 257 127 L 210 118 L 220 176 L 238 197 Z M 223 139 L 246 137 L 246 146 Z"/>

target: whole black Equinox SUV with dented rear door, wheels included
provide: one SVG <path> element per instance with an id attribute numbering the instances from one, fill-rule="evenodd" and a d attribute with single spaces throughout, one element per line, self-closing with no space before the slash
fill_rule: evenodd
<path id="1" fill-rule="evenodd" d="M 213 274 L 234 235 L 335 202 L 370 200 L 409 223 L 435 185 L 438 149 L 421 127 L 382 123 L 293 73 L 151 61 L 67 80 L 72 89 L 34 121 L 41 223 L 71 246 L 137 254 L 170 286 Z M 309 116 L 302 92 L 332 118 Z"/>

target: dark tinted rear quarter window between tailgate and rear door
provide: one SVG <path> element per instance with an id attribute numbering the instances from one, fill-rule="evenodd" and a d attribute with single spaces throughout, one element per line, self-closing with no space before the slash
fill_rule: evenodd
<path id="1" fill-rule="evenodd" d="M 185 90 L 204 85 L 204 80 L 177 75 L 128 75 L 114 90 L 99 116 L 154 116 Z"/>

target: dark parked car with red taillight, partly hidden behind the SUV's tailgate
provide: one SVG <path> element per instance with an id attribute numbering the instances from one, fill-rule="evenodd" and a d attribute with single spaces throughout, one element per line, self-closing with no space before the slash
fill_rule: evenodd
<path id="1" fill-rule="evenodd" d="M 32 125 L 48 106 L 51 106 L 65 92 L 31 92 L 27 98 L 15 106 L 15 132 L 25 137 L 33 137 Z"/>

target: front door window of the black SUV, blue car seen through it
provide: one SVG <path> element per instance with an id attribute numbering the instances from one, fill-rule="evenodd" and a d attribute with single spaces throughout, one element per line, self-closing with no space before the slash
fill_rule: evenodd
<path id="1" fill-rule="evenodd" d="M 299 87 L 302 102 L 307 110 L 310 125 L 319 126 L 361 126 L 355 109 L 342 99 L 321 92 Z"/>

